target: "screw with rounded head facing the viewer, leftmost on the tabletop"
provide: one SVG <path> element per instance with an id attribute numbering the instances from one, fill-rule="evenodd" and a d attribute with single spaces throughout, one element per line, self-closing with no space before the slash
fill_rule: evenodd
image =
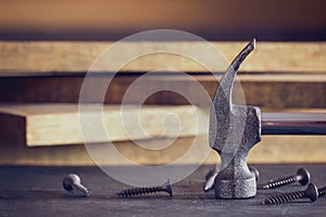
<path id="1" fill-rule="evenodd" d="M 75 174 L 70 174 L 62 181 L 63 188 L 68 192 L 75 192 L 82 196 L 88 196 L 88 190 L 80 183 L 80 178 Z"/>

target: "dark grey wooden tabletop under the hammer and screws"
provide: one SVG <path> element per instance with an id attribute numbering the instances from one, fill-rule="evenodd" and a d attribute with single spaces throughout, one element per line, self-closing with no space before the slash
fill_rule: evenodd
<path id="1" fill-rule="evenodd" d="M 261 174 L 260 183 L 296 174 L 301 166 L 312 181 L 326 184 L 326 164 L 253 165 Z M 180 169 L 185 166 L 179 166 Z M 249 200 L 216 200 L 204 193 L 204 176 L 212 166 L 201 166 L 183 181 L 174 183 L 174 195 L 164 193 L 123 199 L 115 193 L 127 186 L 115 181 L 97 167 L 0 167 L 0 216 L 326 216 L 326 196 L 280 205 L 261 202 L 278 192 L 303 190 L 291 184 L 276 190 L 259 190 Z M 78 174 L 90 190 L 89 197 L 77 197 L 62 189 L 65 175 Z"/>

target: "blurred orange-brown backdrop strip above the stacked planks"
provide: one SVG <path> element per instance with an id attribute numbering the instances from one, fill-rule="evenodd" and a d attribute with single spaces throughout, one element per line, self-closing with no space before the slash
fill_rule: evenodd
<path id="1" fill-rule="evenodd" d="M 0 36 L 5 39 L 112 40 L 154 28 L 212 40 L 325 40 L 325 1 L 0 1 Z"/>

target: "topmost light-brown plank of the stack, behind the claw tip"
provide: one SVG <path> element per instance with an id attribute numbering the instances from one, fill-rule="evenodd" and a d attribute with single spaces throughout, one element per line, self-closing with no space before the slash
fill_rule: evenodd
<path id="1" fill-rule="evenodd" d="M 58 75 L 85 73 L 97 56 L 113 42 L 28 41 L 0 42 L 0 75 Z M 231 61 L 246 42 L 212 42 Z M 135 52 L 156 52 L 173 49 L 177 53 L 198 53 L 203 42 L 124 42 L 114 62 L 122 62 L 125 55 Z M 241 66 L 241 72 L 255 73 L 325 73 L 326 42 L 258 42 L 258 49 Z M 210 64 L 215 55 L 205 53 Z M 124 61 L 123 61 L 124 63 Z M 225 72 L 227 63 L 217 65 L 215 71 Z M 149 72 L 174 68 L 183 72 L 208 72 L 199 63 L 175 54 L 156 53 L 146 55 L 126 64 L 124 72 Z M 111 65 L 98 65 L 98 72 L 111 72 Z"/>

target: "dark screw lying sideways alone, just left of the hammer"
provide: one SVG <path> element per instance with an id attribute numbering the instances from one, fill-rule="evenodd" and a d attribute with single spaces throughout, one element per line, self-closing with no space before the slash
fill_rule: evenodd
<path id="1" fill-rule="evenodd" d="M 116 193 L 116 195 L 128 197 L 133 195 L 141 195 L 141 194 L 155 193 L 162 191 L 167 192 L 170 196 L 172 196 L 172 183 L 170 179 L 167 179 L 167 181 L 163 186 L 126 189 L 124 191 Z"/>

